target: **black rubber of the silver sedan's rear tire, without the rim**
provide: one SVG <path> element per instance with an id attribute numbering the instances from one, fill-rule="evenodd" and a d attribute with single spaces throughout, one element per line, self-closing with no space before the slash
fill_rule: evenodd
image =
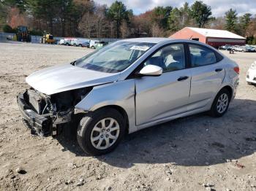
<path id="1" fill-rule="evenodd" d="M 217 103 L 220 96 L 223 94 L 226 94 L 228 97 L 227 107 L 224 112 L 219 112 L 217 109 Z M 223 88 L 222 90 L 220 90 L 219 93 L 214 98 L 213 104 L 211 105 L 211 110 L 209 111 L 209 114 L 211 115 L 211 117 L 222 117 L 227 112 L 228 106 L 230 105 L 230 100 L 231 100 L 230 92 L 226 88 Z"/>

